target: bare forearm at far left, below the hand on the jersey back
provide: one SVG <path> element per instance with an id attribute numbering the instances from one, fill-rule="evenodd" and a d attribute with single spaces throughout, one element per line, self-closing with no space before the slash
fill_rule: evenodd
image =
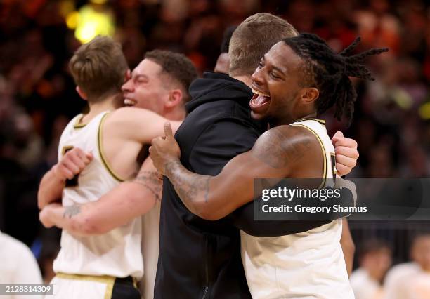
<path id="1" fill-rule="evenodd" d="M 51 202 L 61 199 L 64 187 L 65 180 L 60 180 L 51 168 L 41 179 L 37 192 L 37 206 L 42 209 Z"/>

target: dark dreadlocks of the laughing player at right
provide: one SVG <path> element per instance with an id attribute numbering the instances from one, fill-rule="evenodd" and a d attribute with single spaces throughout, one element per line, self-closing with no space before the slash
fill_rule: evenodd
<path id="1" fill-rule="evenodd" d="M 360 42 L 360 37 L 357 37 L 344 51 L 335 53 L 323 39 L 309 33 L 302 33 L 282 41 L 304 60 L 304 70 L 307 74 L 305 84 L 315 86 L 320 91 L 315 101 L 317 114 L 323 114 L 327 109 L 335 106 L 334 117 L 340 121 L 341 117 L 345 116 L 350 126 L 357 93 L 349 77 L 373 81 L 372 74 L 363 62 L 367 56 L 386 52 L 388 48 L 372 48 L 351 55 Z"/>

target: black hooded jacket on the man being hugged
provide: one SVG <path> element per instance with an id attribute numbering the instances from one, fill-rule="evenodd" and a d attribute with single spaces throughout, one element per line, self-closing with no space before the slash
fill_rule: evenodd
<path id="1" fill-rule="evenodd" d="M 226 74 L 204 73 L 190 86 L 188 116 L 176 132 L 181 163 L 217 175 L 251 149 L 267 125 L 250 117 L 252 92 Z M 306 232 L 327 222 L 256 222 L 253 203 L 217 221 L 194 215 L 164 178 L 155 298 L 251 298 L 240 258 L 240 231 L 259 236 Z"/>

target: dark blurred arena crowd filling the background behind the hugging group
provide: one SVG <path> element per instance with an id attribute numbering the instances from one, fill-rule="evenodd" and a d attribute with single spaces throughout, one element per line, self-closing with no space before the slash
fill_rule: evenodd
<path id="1" fill-rule="evenodd" d="M 329 112 L 327 128 L 330 135 L 340 129 L 358 141 L 353 177 L 430 176 L 430 6 L 424 0 L 3 0 L 0 5 L 0 230 L 32 246 L 46 277 L 52 273 L 44 265 L 56 255 L 59 234 L 41 230 L 36 194 L 41 176 L 56 163 L 60 133 L 85 109 L 67 70 L 80 45 L 73 12 L 84 8 L 106 16 L 108 33 L 122 43 L 131 69 L 145 51 L 164 48 L 185 53 L 200 73 L 211 70 L 224 30 L 257 12 L 280 15 L 336 51 L 356 36 L 362 39 L 358 51 L 388 47 L 389 53 L 369 62 L 376 80 L 355 82 L 352 126 L 333 121 Z M 408 225 L 415 231 L 429 226 Z M 396 263 L 408 258 L 412 237 L 402 225 L 388 225 L 383 233 L 380 225 L 351 227 L 357 248 L 363 239 L 381 237 L 391 243 Z"/>

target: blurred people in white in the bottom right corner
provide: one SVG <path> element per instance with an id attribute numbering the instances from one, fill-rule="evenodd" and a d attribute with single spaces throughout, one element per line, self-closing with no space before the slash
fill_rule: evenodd
<path id="1" fill-rule="evenodd" d="M 379 239 L 363 241 L 358 251 L 360 267 L 350 278 L 356 299 L 429 298 L 430 234 L 417 235 L 410 249 L 410 262 L 391 267 L 389 244 Z"/>

